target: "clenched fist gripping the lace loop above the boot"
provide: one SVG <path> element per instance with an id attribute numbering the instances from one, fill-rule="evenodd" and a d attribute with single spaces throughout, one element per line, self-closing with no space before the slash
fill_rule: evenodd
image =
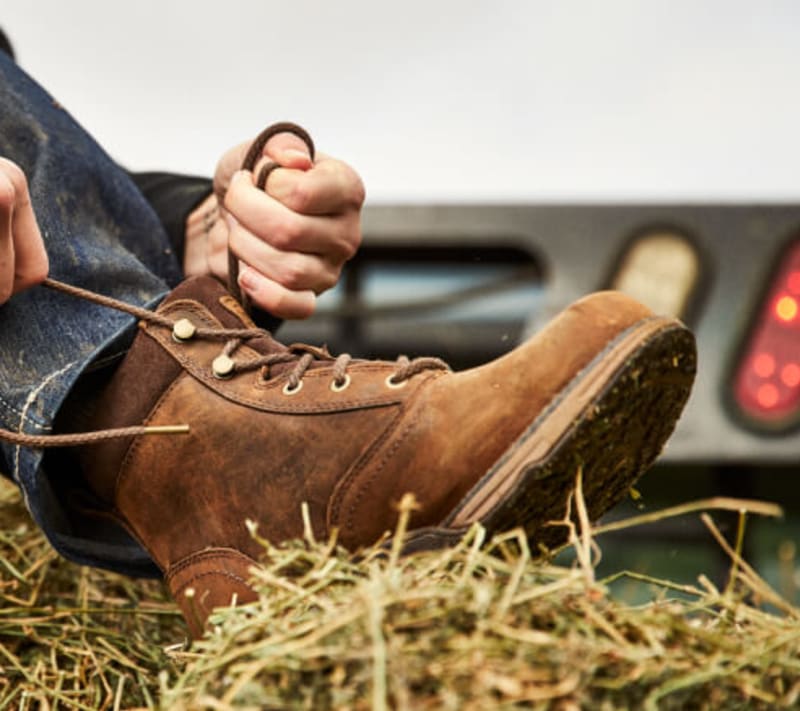
<path id="1" fill-rule="evenodd" d="M 282 168 L 259 190 L 253 173 L 239 170 L 249 146 L 220 160 L 214 192 L 224 195 L 223 219 L 212 225 L 214 206 L 203 207 L 207 237 L 192 248 L 187 231 L 184 269 L 226 279 L 230 246 L 241 261 L 239 286 L 256 306 L 280 318 L 306 318 L 358 249 L 364 186 L 345 163 L 322 154 L 312 163 L 299 137 L 281 133 L 267 142 L 255 174 L 268 160 Z"/>

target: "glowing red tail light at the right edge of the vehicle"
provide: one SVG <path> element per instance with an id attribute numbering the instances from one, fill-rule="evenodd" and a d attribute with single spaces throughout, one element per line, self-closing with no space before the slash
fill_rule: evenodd
<path id="1" fill-rule="evenodd" d="M 734 378 L 734 398 L 763 427 L 800 421 L 800 242 L 773 275 Z"/>

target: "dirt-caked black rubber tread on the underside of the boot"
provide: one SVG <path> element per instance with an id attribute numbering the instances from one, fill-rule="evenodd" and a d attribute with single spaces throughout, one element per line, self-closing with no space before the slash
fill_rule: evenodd
<path id="1" fill-rule="evenodd" d="M 601 354 L 596 361 L 601 363 L 602 358 Z M 589 374 L 592 367 L 587 368 Z M 676 322 L 667 322 L 635 343 L 599 392 L 571 418 L 547 456 L 518 467 L 513 486 L 476 520 L 490 536 L 523 527 L 534 550 L 539 545 L 552 548 L 564 543 L 567 527 L 552 522 L 564 519 L 578 470 L 589 518 L 596 520 L 628 494 L 660 454 L 689 397 L 695 371 L 694 336 Z M 576 380 L 581 377 L 588 374 Z M 524 453 L 526 443 L 541 427 L 539 420 L 548 416 L 549 412 L 541 415 L 531 425 L 511 454 L 515 448 Z M 440 526 L 411 533 L 406 549 L 438 548 L 457 541 L 468 528 L 463 525 L 464 507 L 481 495 L 493 476 L 497 478 L 495 470 L 502 466 L 501 459 Z M 575 520 L 574 505 L 572 511 Z M 462 525 L 454 526 L 460 512 Z"/>

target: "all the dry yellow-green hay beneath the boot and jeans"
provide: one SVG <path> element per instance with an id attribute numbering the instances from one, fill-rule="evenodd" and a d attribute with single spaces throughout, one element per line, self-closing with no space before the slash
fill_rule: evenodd
<path id="1" fill-rule="evenodd" d="M 4 485 L 0 710 L 795 706 L 800 610 L 741 560 L 741 536 L 704 514 L 731 557 L 724 588 L 648 578 L 660 592 L 627 605 L 596 579 L 579 484 L 568 560 L 479 527 L 452 549 L 359 560 L 310 533 L 264 541 L 259 600 L 217 611 L 192 646 L 160 584 L 60 560 Z M 660 517 L 713 508 L 777 513 L 712 500 Z"/>

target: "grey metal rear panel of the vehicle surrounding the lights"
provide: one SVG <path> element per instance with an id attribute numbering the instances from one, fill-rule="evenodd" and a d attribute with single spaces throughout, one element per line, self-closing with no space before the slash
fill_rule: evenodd
<path id="1" fill-rule="evenodd" d="M 631 240 L 656 227 L 686 235 L 702 265 L 688 314 L 698 337 L 698 379 L 665 460 L 796 461 L 799 432 L 768 435 L 748 429 L 732 416 L 726 397 L 743 335 L 775 259 L 800 235 L 800 206 L 371 206 L 364 213 L 367 247 L 435 243 L 463 255 L 502 244 L 530 252 L 543 270 L 543 293 L 525 324 L 527 333 L 580 296 L 605 288 Z"/>

